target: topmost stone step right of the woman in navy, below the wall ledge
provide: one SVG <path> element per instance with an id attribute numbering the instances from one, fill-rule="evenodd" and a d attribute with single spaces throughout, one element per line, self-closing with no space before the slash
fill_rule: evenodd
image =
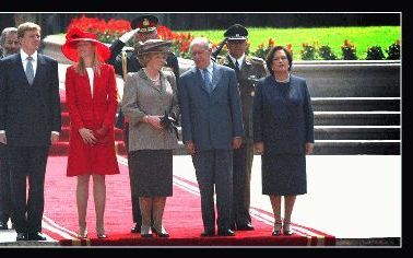
<path id="1" fill-rule="evenodd" d="M 400 97 L 312 97 L 315 112 L 400 112 Z"/>

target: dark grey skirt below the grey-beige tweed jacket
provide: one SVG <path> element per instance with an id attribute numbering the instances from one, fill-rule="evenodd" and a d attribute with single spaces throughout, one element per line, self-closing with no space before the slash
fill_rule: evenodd
<path id="1" fill-rule="evenodd" d="M 173 195 L 173 150 L 139 150 L 129 153 L 139 197 Z"/>

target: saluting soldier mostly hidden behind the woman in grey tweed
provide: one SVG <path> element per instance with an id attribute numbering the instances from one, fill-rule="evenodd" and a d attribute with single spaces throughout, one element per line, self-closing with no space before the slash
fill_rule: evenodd
<path id="1" fill-rule="evenodd" d="M 127 42 L 129 42 L 132 37 L 134 37 L 135 43 L 158 38 L 156 30 L 157 22 L 158 20 L 154 15 L 138 16 L 131 22 L 132 31 L 127 32 L 111 44 L 111 56 L 108 60 L 108 63 L 115 67 L 116 74 L 125 78 L 128 72 L 138 72 L 142 68 L 141 63 L 138 61 L 138 56 L 133 51 L 133 48 L 125 49 L 123 47 L 126 46 Z M 168 69 L 172 69 L 177 79 L 179 78 L 178 58 L 173 52 L 168 52 L 166 59 L 166 67 Z M 116 121 L 116 127 L 123 129 L 123 140 L 128 152 L 129 126 L 128 121 L 125 120 L 125 116 L 121 112 L 119 112 Z M 132 198 L 133 222 L 135 223 L 135 225 L 131 228 L 131 233 L 140 233 L 142 225 L 142 215 L 139 207 L 139 196 L 137 191 L 137 176 L 133 174 L 131 169 L 129 169 L 129 178 Z"/>

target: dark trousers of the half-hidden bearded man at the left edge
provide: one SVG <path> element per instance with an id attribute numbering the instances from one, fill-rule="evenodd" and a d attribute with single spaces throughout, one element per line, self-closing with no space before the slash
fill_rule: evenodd
<path id="1" fill-rule="evenodd" d="M 11 218 L 11 184 L 7 145 L 0 143 L 0 222 Z"/>

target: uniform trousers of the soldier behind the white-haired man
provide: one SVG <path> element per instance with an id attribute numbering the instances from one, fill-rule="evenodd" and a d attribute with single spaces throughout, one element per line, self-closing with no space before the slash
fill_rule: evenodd
<path id="1" fill-rule="evenodd" d="M 251 222 L 249 214 L 250 181 L 253 160 L 253 143 L 243 143 L 234 150 L 233 172 L 233 223 L 245 225 Z"/>

